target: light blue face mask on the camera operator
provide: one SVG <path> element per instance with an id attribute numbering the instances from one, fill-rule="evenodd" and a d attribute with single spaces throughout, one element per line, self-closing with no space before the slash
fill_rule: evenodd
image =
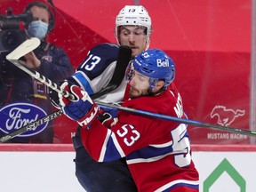
<path id="1" fill-rule="evenodd" d="M 28 25 L 28 35 L 30 37 L 37 37 L 42 40 L 47 34 L 47 29 L 47 23 L 44 23 L 41 20 L 35 20 Z"/>

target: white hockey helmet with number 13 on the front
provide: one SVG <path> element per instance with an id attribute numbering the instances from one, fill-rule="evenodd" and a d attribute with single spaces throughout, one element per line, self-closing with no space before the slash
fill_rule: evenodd
<path id="1" fill-rule="evenodd" d="M 116 16 L 116 28 L 115 36 L 118 41 L 118 27 L 119 26 L 142 26 L 147 28 L 146 35 L 149 37 L 151 35 L 151 18 L 148 11 L 142 5 L 125 5 L 124 8 Z"/>

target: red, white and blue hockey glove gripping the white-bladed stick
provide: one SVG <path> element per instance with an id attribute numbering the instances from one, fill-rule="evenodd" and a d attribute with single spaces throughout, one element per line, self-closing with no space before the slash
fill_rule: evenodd
<path id="1" fill-rule="evenodd" d="M 87 92 L 84 92 L 76 85 L 68 86 L 68 82 L 64 82 L 60 86 L 61 89 L 70 92 L 75 96 L 75 100 L 68 100 L 59 93 L 60 108 L 69 118 L 75 120 L 80 126 L 89 126 L 98 116 L 99 107 L 90 98 Z"/>

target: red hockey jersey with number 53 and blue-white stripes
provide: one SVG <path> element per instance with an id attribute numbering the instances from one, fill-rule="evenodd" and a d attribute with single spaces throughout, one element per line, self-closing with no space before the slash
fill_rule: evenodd
<path id="1" fill-rule="evenodd" d="M 173 83 L 156 96 L 125 100 L 123 106 L 184 118 L 180 93 Z M 125 156 L 139 191 L 198 188 L 186 124 L 120 111 L 118 123 L 111 130 L 95 120 L 89 129 L 82 130 L 81 136 L 96 161 Z"/>

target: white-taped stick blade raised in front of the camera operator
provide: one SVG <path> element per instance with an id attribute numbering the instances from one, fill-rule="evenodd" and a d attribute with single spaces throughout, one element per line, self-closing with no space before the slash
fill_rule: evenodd
<path id="1" fill-rule="evenodd" d="M 6 60 L 19 60 L 22 56 L 28 54 L 28 52 L 32 52 L 33 50 L 35 50 L 40 43 L 40 40 L 36 37 L 29 38 L 25 42 L 20 44 L 12 52 L 10 52 L 6 56 Z"/>

